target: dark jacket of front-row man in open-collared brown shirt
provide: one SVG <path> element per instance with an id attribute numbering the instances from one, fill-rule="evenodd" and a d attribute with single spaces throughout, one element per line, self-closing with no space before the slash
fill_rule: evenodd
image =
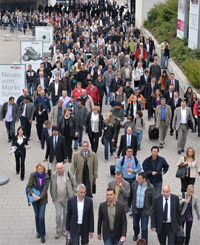
<path id="1" fill-rule="evenodd" d="M 110 233 L 107 202 L 103 202 L 99 206 L 97 234 L 100 235 L 101 231 L 103 233 L 103 240 L 106 241 Z M 127 232 L 127 219 L 124 210 L 124 205 L 119 202 L 116 202 L 116 212 L 115 212 L 114 230 L 113 230 L 115 240 L 119 241 L 119 239 L 122 236 L 126 237 L 126 232 Z"/>

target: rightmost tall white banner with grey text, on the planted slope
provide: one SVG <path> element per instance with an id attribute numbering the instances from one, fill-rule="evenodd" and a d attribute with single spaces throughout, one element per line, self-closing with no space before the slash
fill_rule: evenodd
<path id="1" fill-rule="evenodd" d="M 188 48 L 200 48 L 200 7 L 199 0 L 190 0 Z"/>

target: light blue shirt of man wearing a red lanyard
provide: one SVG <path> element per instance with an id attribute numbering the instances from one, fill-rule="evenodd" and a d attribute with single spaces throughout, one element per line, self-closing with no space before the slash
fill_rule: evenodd
<path id="1" fill-rule="evenodd" d="M 136 174 L 139 173 L 139 172 L 142 170 L 139 159 L 137 158 L 138 164 L 137 164 L 137 166 L 136 166 L 136 165 L 135 165 L 135 159 L 134 159 L 134 157 L 133 157 L 132 161 L 131 161 L 131 159 L 127 158 L 128 164 L 130 164 L 130 161 L 131 161 L 130 167 L 128 167 L 128 164 L 127 164 L 127 162 L 126 162 L 126 157 L 124 158 L 124 164 L 123 164 L 123 166 L 121 166 L 121 161 L 122 161 L 122 159 L 123 159 L 123 157 L 120 157 L 120 159 L 119 159 L 119 161 L 118 161 L 118 163 L 117 163 L 117 165 L 116 165 L 116 168 L 115 168 L 115 173 L 116 173 L 117 171 L 121 171 L 122 174 L 123 174 L 123 177 L 124 177 L 125 179 L 133 179 L 133 178 L 135 178 Z M 128 173 L 128 172 L 126 171 L 127 168 L 133 169 L 134 172 L 133 172 L 133 173 Z"/>

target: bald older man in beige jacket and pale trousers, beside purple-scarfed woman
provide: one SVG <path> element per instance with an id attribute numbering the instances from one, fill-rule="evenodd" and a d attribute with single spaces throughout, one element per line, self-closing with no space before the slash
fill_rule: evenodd
<path id="1" fill-rule="evenodd" d="M 64 169 L 63 163 L 57 163 L 56 171 L 51 175 L 50 194 L 56 211 L 56 234 L 66 236 L 67 203 L 76 195 L 77 183 L 73 174 Z"/>

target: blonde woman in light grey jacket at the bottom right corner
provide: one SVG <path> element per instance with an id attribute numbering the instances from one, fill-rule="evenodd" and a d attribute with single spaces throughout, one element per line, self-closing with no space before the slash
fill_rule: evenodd
<path id="1" fill-rule="evenodd" d="M 181 218 L 182 218 L 182 227 L 184 229 L 184 224 L 186 223 L 186 238 L 185 245 L 189 244 L 190 233 L 192 229 L 194 213 L 196 211 L 197 218 L 200 220 L 200 211 L 197 202 L 197 197 L 194 194 L 194 186 L 188 185 L 187 192 L 181 193 L 179 196 L 181 204 Z"/>

